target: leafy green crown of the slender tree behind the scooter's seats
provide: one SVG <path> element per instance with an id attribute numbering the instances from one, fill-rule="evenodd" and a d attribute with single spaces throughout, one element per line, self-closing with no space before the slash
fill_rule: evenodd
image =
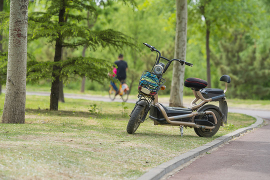
<path id="1" fill-rule="evenodd" d="M 204 58 L 207 54 L 207 60 L 219 53 L 218 41 L 223 37 L 229 38 L 231 29 L 248 30 L 255 37 L 253 32 L 258 28 L 254 22 L 259 18 L 257 14 L 260 9 L 254 0 L 189 0 L 188 7 L 188 22 L 191 22 L 191 28 L 188 29 L 192 34 L 200 34 L 191 36 L 188 41 L 205 43 L 201 52 Z M 205 41 L 205 35 L 209 42 Z M 210 50 L 206 52 L 205 47 Z M 207 65 L 207 71 L 209 70 Z M 211 66 L 210 72 L 215 76 L 211 81 L 217 85 L 217 68 Z"/>

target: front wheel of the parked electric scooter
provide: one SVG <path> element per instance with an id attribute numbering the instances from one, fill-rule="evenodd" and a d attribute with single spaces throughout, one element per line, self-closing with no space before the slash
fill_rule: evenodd
<path id="1" fill-rule="evenodd" d="M 143 118 L 145 109 L 146 109 L 146 106 L 142 106 L 139 104 L 135 107 L 126 126 L 126 131 L 128 133 L 134 133 L 137 130 L 141 120 L 143 120 L 142 118 Z"/>

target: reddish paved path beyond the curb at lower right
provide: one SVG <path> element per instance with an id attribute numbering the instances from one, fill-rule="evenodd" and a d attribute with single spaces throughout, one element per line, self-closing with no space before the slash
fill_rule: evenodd
<path id="1" fill-rule="evenodd" d="M 165 179 L 270 179 L 270 112 L 261 114 L 268 118 L 267 125 L 221 145 Z"/>

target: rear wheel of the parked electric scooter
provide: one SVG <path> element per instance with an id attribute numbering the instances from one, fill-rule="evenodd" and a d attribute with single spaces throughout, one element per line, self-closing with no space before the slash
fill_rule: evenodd
<path id="1" fill-rule="evenodd" d="M 210 110 L 215 114 L 215 116 L 217 118 L 217 124 L 211 130 L 210 129 L 202 129 L 202 128 L 195 128 L 194 127 L 195 133 L 200 137 L 211 137 L 218 131 L 218 129 L 220 127 L 221 118 L 220 118 L 218 112 L 213 108 L 209 108 L 207 110 Z M 205 118 L 207 118 L 207 114 L 206 115 L 199 115 L 198 117 L 195 117 L 195 118 L 197 118 L 197 119 L 205 119 Z"/>

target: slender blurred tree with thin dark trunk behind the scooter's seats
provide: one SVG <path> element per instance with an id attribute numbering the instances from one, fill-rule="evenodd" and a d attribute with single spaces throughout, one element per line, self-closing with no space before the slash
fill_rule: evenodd
<path id="1" fill-rule="evenodd" d="M 190 0 L 189 18 L 196 19 L 195 31 L 201 32 L 205 44 L 207 82 L 211 87 L 210 59 L 218 48 L 211 45 L 223 36 L 228 37 L 232 28 L 250 29 L 250 19 L 257 13 L 258 3 L 254 0 Z"/>

